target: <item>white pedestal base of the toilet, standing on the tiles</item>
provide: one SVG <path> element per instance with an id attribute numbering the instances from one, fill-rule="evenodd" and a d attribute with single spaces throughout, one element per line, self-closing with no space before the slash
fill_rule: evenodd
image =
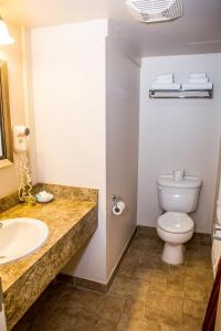
<path id="1" fill-rule="evenodd" d="M 165 243 L 161 259 L 169 265 L 181 265 L 183 263 L 185 246 Z"/>

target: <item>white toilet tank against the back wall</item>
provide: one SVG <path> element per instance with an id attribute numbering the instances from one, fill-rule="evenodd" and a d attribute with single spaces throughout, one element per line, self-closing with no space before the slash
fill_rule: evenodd
<path id="1" fill-rule="evenodd" d="M 176 181 L 172 175 L 159 175 L 157 180 L 160 207 L 166 212 L 192 213 L 197 210 L 201 179 L 185 177 Z"/>

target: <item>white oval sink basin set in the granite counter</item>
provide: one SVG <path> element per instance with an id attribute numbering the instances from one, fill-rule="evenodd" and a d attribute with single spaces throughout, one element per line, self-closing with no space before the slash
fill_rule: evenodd
<path id="1" fill-rule="evenodd" d="M 49 236 L 48 225 L 39 220 L 21 217 L 0 223 L 0 265 L 35 252 Z"/>

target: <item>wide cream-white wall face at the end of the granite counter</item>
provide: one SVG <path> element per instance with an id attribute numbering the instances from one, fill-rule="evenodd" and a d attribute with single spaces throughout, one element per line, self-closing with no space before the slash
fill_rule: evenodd
<path id="1" fill-rule="evenodd" d="M 106 281 L 106 21 L 32 30 L 36 181 L 99 190 L 99 225 L 77 268 Z"/>

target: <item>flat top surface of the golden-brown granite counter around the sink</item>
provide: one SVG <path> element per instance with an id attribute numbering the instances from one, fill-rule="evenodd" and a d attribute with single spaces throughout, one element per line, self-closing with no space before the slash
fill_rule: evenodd
<path id="1" fill-rule="evenodd" d="M 65 236 L 96 204 L 94 202 L 75 202 L 55 199 L 48 204 L 19 204 L 0 214 L 0 222 L 7 218 L 31 217 L 41 220 L 49 226 L 45 244 L 35 253 L 8 265 L 0 265 L 2 290 L 6 292 L 34 263 L 41 258 L 56 242 Z"/>

